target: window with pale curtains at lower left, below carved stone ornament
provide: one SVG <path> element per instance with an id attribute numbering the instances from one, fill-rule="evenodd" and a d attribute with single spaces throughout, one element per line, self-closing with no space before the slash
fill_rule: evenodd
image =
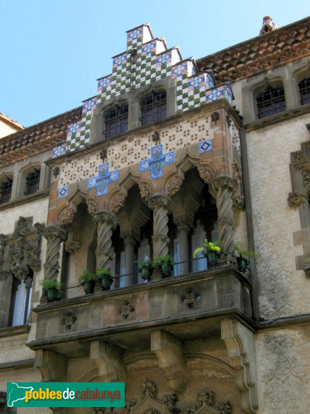
<path id="1" fill-rule="evenodd" d="M 32 275 L 25 279 L 13 281 L 12 292 L 12 326 L 24 325 L 30 313 L 32 293 Z"/>

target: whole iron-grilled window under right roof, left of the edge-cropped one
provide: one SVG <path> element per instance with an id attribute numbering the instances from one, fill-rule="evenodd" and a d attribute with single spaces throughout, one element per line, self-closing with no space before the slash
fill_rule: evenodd
<path id="1" fill-rule="evenodd" d="M 259 119 L 284 111 L 287 108 L 284 88 L 273 89 L 269 86 L 256 98 L 256 103 Z"/>

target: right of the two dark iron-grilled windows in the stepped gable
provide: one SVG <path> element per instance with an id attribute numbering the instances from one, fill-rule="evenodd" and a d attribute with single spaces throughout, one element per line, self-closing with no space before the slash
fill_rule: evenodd
<path id="1" fill-rule="evenodd" d="M 154 92 L 145 95 L 140 102 L 141 125 L 149 125 L 165 119 L 167 115 L 167 97 L 165 91 Z"/>

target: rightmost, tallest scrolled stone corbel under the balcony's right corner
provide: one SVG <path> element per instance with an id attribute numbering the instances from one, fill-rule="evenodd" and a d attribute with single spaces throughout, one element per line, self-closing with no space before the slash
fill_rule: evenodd
<path id="1" fill-rule="evenodd" d="M 256 413 L 258 408 L 258 380 L 254 333 L 237 319 L 220 321 L 221 337 L 236 375 L 236 386 L 244 413 Z"/>

